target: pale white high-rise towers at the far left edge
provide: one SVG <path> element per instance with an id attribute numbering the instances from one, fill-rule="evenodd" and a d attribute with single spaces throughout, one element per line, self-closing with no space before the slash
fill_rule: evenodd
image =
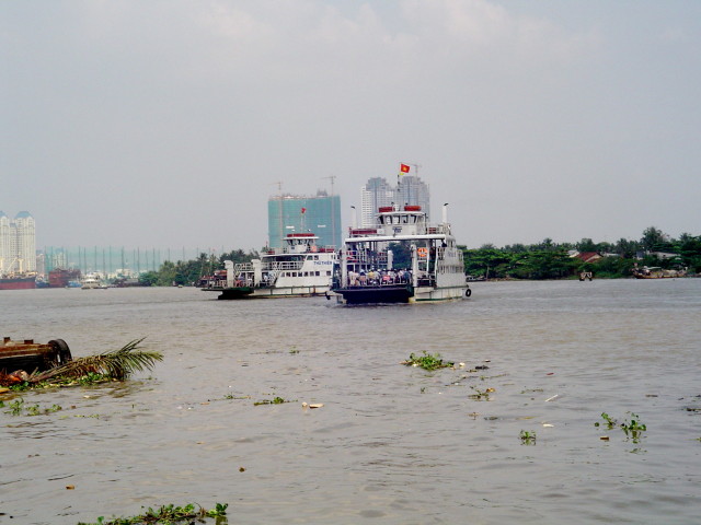
<path id="1" fill-rule="evenodd" d="M 28 211 L 0 211 L 0 273 L 36 271 L 36 228 Z"/>

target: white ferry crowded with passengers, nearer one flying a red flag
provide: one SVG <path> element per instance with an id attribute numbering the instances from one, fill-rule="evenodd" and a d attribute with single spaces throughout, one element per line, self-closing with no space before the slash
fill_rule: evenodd
<path id="1" fill-rule="evenodd" d="M 428 224 L 420 206 L 394 205 L 379 208 L 375 228 L 352 228 L 334 270 L 331 290 L 337 300 L 347 304 L 413 303 L 470 296 L 447 206 L 443 222 L 436 225 Z M 398 254 L 391 246 L 409 253 L 403 265 L 394 264 Z"/>

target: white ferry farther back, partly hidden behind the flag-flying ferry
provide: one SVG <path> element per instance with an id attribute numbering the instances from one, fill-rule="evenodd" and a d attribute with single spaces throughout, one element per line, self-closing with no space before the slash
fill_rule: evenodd
<path id="1" fill-rule="evenodd" d="M 290 233 L 283 248 L 268 249 L 251 262 L 226 260 L 225 270 L 203 278 L 199 285 L 206 292 L 220 292 L 218 299 L 324 295 L 336 252 L 318 246 L 318 240 L 313 233 Z"/>

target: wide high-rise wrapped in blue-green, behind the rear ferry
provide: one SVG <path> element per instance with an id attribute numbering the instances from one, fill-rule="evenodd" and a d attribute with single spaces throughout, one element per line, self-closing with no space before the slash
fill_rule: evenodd
<path id="1" fill-rule="evenodd" d="M 288 233 L 311 232 L 320 246 L 341 247 L 341 197 L 320 190 L 313 197 L 279 195 L 267 201 L 267 236 L 272 248 L 281 247 Z"/>

